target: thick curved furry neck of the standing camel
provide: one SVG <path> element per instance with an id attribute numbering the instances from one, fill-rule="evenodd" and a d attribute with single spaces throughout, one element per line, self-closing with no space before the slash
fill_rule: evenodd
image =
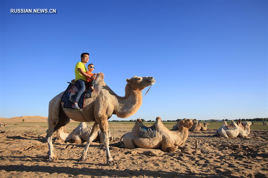
<path id="1" fill-rule="evenodd" d="M 142 104 L 141 90 L 134 90 L 130 84 L 126 85 L 125 96 L 117 97 L 115 106 L 116 116 L 126 118 L 135 114 Z"/>

